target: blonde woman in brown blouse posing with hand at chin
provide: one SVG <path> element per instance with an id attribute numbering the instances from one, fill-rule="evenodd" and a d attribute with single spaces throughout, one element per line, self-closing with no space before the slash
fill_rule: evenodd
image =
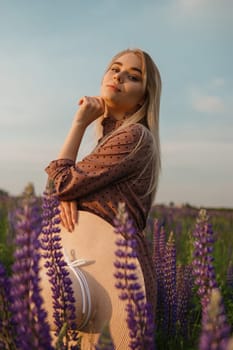
<path id="1" fill-rule="evenodd" d="M 118 53 L 104 74 L 100 96 L 80 100 L 58 159 L 46 168 L 60 199 L 67 258 L 73 254 L 88 260 L 79 268 L 91 305 L 84 312 L 84 324 L 79 319 L 83 349 L 91 349 L 105 322 L 110 323 L 116 349 L 128 348 L 124 303 L 117 299 L 112 268 L 113 220 L 119 202 L 125 203 L 137 230 L 138 276 L 147 301 L 155 307 L 155 275 L 143 230 L 160 170 L 160 93 L 160 74 L 147 53 Z M 84 132 L 94 121 L 101 138 L 90 155 L 75 163 Z M 71 276 L 80 309 L 84 292 L 72 267 Z M 85 339 L 91 333 L 94 336 Z"/>

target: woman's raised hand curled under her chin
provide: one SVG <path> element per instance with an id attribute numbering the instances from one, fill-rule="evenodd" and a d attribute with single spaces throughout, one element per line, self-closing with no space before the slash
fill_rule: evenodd
<path id="1" fill-rule="evenodd" d="M 79 100 L 79 109 L 77 110 L 74 123 L 87 127 L 94 120 L 105 113 L 105 103 L 99 96 L 84 96 Z"/>

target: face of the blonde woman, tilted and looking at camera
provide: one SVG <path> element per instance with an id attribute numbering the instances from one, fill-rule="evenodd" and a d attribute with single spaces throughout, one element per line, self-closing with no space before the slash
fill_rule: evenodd
<path id="1" fill-rule="evenodd" d="M 133 52 L 114 61 L 103 77 L 101 97 L 107 109 L 118 118 L 132 114 L 143 103 L 142 60 Z"/>

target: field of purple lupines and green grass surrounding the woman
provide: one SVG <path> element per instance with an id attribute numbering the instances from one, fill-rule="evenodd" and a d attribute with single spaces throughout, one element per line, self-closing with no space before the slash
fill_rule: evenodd
<path id="1" fill-rule="evenodd" d="M 60 245 L 57 205 L 49 193 L 36 197 L 32 185 L 17 198 L 0 192 L 0 349 L 80 348 L 79 334 L 72 331 L 75 300 Z M 233 210 L 153 207 L 147 235 L 158 282 L 155 325 L 134 264 L 127 264 L 136 241 L 122 206 L 115 232 L 116 288 L 128 301 L 130 349 L 232 350 Z M 53 344 L 40 296 L 41 249 L 54 298 Z M 96 349 L 114 349 L 107 329 Z"/>

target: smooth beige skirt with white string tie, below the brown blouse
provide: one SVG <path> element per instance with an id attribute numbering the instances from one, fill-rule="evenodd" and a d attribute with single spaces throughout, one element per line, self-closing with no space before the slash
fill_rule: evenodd
<path id="1" fill-rule="evenodd" d="M 80 325 L 78 330 L 82 336 L 81 349 L 94 349 L 101 331 L 106 326 L 109 327 L 115 348 L 128 349 L 129 331 L 125 301 L 119 299 L 119 290 L 115 287 L 114 252 L 117 248 L 115 244 L 117 235 L 114 233 L 114 228 L 99 216 L 80 211 L 75 231 L 70 233 L 61 228 L 60 235 L 66 260 L 70 261 L 71 265 L 73 262 L 69 272 L 76 300 L 76 321 Z M 138 260 L 135 260 L 137 276 L 145 293 L 142 270 Z M 85 284 L 88 285 L 90 292 L 89 297 L 85 294 L 86 300 L 83 292 Z M 53 331 L 55 325 L 52 316 L 51 286 L 44 267 L 41 269 L 41 286 L 48 321 Z"/>

